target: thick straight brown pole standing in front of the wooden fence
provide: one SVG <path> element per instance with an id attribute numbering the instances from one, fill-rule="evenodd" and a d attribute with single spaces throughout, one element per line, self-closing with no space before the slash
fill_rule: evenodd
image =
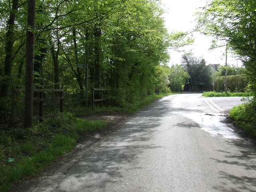
<path id="1" fill-rule="evenodd" d="M 24 128 L 33 126 L 33 71 L 35 43 L 36 0 L 28 1 L 28 30 L 26 44 L 25 112 Z"/>

